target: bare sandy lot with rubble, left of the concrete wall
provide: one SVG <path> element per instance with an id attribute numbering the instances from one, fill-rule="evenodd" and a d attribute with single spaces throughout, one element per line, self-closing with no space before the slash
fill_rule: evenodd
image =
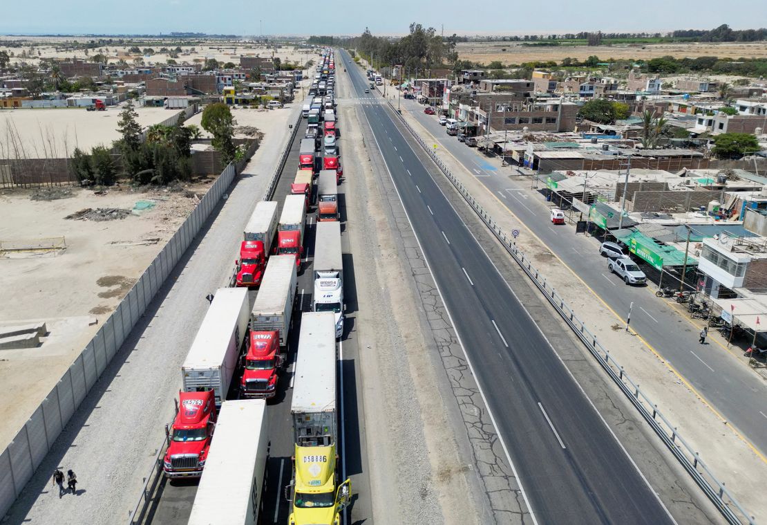
<path id="1" fill-rule="evenodd" d="M 50 201 L 31 200 L 35 190 L 3 190 L 3 243 L 64 237 L 66 249 L 0 258 L 0 288 L 5 291 L 0 323 L 43 319 L 50 332 L 38 348 L 0 351 L 0 381 L 15 393 L 0 401 L 0 443 L 18 431 L 54 378 L 64 373 L 196 206 L 195 194 L 202 196 L 211 182 L 191 185 L 189 192 L 114 187 L 103 196 L 67 187 L 70 197 Z M 64 219 L 85 208 L 130 210 L 140 200 L 155 206 L 141 216 L 119 220 Z"/>

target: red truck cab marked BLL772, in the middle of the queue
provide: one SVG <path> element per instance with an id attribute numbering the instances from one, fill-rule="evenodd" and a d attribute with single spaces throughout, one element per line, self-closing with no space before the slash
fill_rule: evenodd
<path id="1" fill-rule="evenodd" d="M 242 398 L 273 398 L 277 393 L 278 368 L 285 362 L 280 353 L 280 333 L 250 332 L 250 345 L 240 380 Z"/>

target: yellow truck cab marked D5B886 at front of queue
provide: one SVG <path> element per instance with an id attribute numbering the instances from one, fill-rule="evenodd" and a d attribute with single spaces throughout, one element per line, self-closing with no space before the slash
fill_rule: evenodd
<path id="1" fill-rule="evenodd" d="M 290 525 L 339 525 L 351 500 L 351 481 L 337 485 L 335 447 L 295 446 Z"/>

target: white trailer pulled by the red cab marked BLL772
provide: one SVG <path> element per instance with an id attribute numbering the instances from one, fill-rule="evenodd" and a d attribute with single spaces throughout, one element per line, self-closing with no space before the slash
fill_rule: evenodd
<path id="1" fill-rule="evenodd" d="M 295 287 L 295 256 L 270 257 L 250 312 L 250 329 L 254 332 L 279 330 L 280 346 L 287 345 Z"/>

